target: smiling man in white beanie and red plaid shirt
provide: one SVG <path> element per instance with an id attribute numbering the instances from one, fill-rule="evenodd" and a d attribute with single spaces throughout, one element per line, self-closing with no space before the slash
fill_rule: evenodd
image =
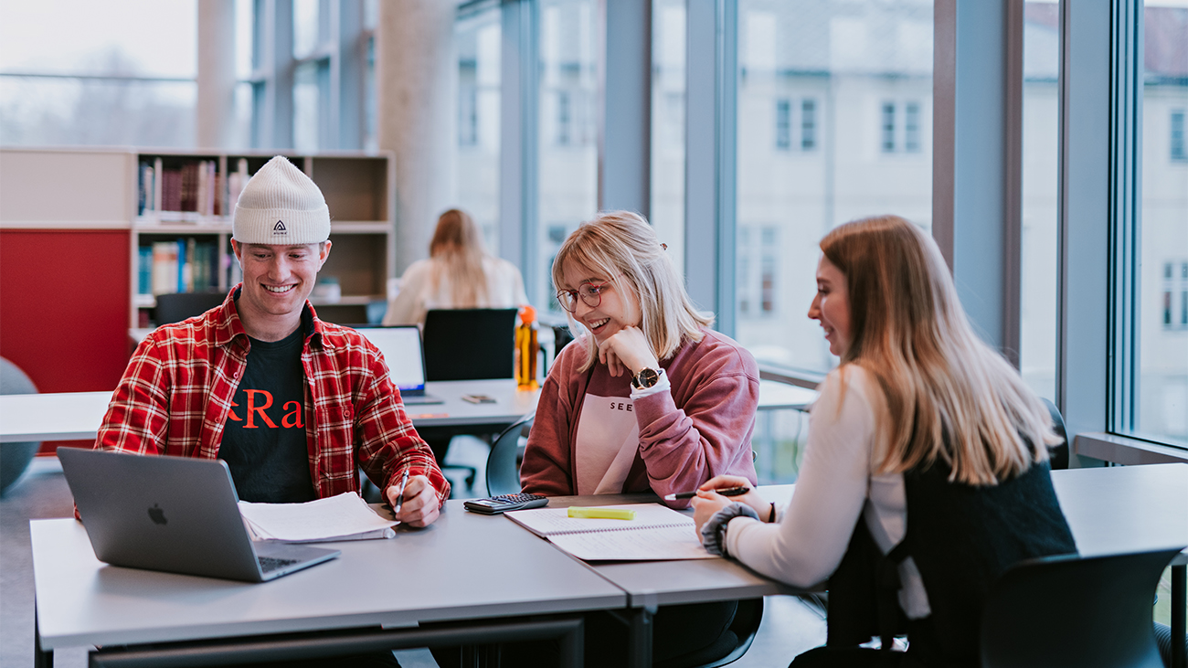
<path id="1" fill-rule="evenodd" d="M 140 344 L 95 447 L 222 459 L 240 498 L 266 503 L 359 491 L 362 468 L 397 519 L 432 523 L 449 483 L 383 354 L 308 302 L 330 254 L 322 191 L 277 156 L 244 187 L 232 231 L 244 282 Z"/>

